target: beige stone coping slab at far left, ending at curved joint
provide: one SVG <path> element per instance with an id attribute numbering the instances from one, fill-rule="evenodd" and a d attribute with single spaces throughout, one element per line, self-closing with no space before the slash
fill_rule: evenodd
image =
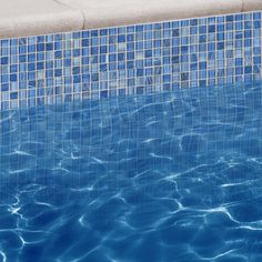
<path id="1" fill-rule="evenodd" d="M 54 0 L 0 0 L 0 38 L 83 29 L 82 12 Z"/>

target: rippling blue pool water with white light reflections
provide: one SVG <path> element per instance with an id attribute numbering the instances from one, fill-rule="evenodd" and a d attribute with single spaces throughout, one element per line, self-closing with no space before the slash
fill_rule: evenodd
<path id="1" fill-rule="evenodd" d="M 262 85 L 2 112 L 0 261 L 262 261 Z"/>

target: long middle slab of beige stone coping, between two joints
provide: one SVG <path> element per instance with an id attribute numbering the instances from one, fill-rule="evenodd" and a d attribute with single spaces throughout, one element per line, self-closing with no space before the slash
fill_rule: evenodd
<path id="1" fill-rule="evenodd" d="M 241 12 L 242 0 L 62 0 L 81 10 L 84 28 Z"/>

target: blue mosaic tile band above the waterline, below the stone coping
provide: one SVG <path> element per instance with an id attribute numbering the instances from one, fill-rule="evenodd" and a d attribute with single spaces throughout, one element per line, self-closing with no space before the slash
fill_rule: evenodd
<path id="1" fill-rule="evenodd" d="M 262 11 L 0 40 L 1 110 L 262 79 Z"/>

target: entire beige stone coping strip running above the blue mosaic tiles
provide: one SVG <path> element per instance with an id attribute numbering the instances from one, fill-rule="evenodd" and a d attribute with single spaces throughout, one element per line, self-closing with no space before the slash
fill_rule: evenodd
<path id="1" fill-rule="evenodd" d="M 0 38 L 261 9 L 262 0 L 0 0 Z"/>

